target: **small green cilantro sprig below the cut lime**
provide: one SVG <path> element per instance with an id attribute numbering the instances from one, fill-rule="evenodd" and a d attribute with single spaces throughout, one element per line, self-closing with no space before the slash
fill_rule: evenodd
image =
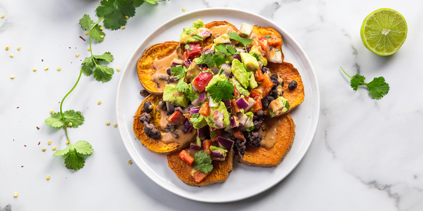
<path id="1" fill-rule="evenodd" d="M 373 78 L 373 80 L 369 83 L 364 83 L 364 80 L 366 79 L 364 76 L 355 74 L 351 77 L 342 69 L 342 67 L 340 68 L 349 78 L 351 78 L 351 87 L 354 91 L 357 91 L 359 85 L 365 85 L 369 89 L 371 97 L 377 100 L 389 92 L 389 84 L 385 82 L 384 77 Z"/>

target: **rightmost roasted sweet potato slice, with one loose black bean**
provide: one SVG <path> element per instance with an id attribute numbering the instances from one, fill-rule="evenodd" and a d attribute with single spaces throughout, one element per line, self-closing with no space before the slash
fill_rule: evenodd
<path id="1" fill-rule="evenodd" d="M 294 65 L 288 62 L 282 62 L 280 64 L 269 62 L 269 64 L 267 64 L 267 68 L 269 68 L 271 74 L 276 73 L 279 78 L 283 79 L 282 97 L 288 100 L 289 111 L 304 101 L 304 84 L 302 84 L 301 76 L 299 75 L 297 68 L 294 68 Z M 292 80 L 297 81 L 297 88 L 289 90 L 288 84 Z"/>

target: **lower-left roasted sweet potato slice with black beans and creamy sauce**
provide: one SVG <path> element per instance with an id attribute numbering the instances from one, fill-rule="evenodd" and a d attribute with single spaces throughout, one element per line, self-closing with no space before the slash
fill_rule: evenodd
<path id="1" fill-rule="evenodd" d="M 160 122 L 160 119 L 161 119 L 160 112 L 156 111 L 156 105 L 160 100 L 162 100 L 162 97 L 157 96 L 157 95 L 148 95 L 143 100 L 140 107 L 138 107 L 137 112 L 135 113 L 134 122 L 133 122 L 133 129 L 134 129 L 135 136 L 141 141 L 143 146 L 146 146 L 148 150 L 150 150 L 151 152 L 154 152 L 156 154 L 170 154 L 173 151 L 182 149 L 185 146 L 187 146 L 188 144 L 190 144 L 190 142 L 188 142 L 187 144 L 182 146 L 181 144 L 176 143 L 176 142 L 163 143 L 159 139 L 149 138 L 144 133 L 144 124 L 141 123 L 138 118 L 141 114 L 144 113 L 144 111 L 142 111 L 142 109 L 144 107 L 143 106 L 144 103 L 147 100 L 150 100 L 151 104 L 154 105 L 153 111 L 151 111 L 151 113 L 150 113 L 150 115 L 151 115 L 151 122 L 150 123 L 154 124 L 154 126 L 156 126 L 160 130 L 159 122 Z M 164 135 L 164 133 L 165 132 L 162 131 L 162 136 Z M 193 133 L 192 137 L 195 138 L 195 133 L 197 133 L 197 130 L 192 129 L 189 133 Z"/>

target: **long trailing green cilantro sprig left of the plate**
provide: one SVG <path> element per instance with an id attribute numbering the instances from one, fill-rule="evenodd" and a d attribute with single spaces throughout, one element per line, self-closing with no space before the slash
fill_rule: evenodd
<path id="1" fill-rule="evenodd" d="M 63 102 L 66 97 L 75 89 L 82 73 L 86 76 L 91 76 L 102 82 L 110 81 L 114 73 L 113 68 L 107 67 L 104 63 L 112 62 L 113 55 L 110 52 L 104 52 L 101 55 L 94 55 L 91 46 L 91 40 L 95 40 L 98 43 L 104 41 L 106 34 L 103 29 L 117 30 L 126 25 L 126 20 L 129 17 L 135 15 L 135 8 L 139 7 L 145 2 L 156 4 L 157 2 L 164 0 L 102 0 L 100 5 L 96 8 L 96 15 L 99 19 L 94 22 L 91 17 L 84 14 L 79 20 L 79 24 L 82 30 L 88 30 L 90 52 L 91 56 L 86 57 L 82 62 L 80 75 L 72 87 L 72 89 L 63 97 L 60 101 L 60 112 L 52 113 L 51 116 L 44 121 L 47 125 L 52 127 L 63 127 L 66 134 L 66 139 L 69 141 L 69 146 L 65 149 L 57 150 L 53 156 L 66 156 L 65 165 L 66 168 L 79 170 L 85 165 L 85 156 L 93 153 L 93 148 L 87 141 L 77 141 L 72 144 L 68 136 L 68 127 L 77 128 L 84 123 L 84 116 L 80 111 L 62 110 Z M 103 20 L 104 28 L 100 24 Z M 85 40 L 84 40 L 85 41 Z M 101 65 L 101 64 L 102 65 Z"/>

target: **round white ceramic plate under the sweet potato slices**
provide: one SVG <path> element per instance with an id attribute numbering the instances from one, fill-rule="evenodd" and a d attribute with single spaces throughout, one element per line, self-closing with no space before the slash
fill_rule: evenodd
<path id="1" fill-rule="evenodd" d="M 229 178 L 219 184 L 191 187 L 184 184 L 168 167 L 166 156 L 151 153 L 132 131 L 132 116 L 143 100 L 137 76 L 137 60 L 148 46 L 165 41 L 179 41 L 183 27 L 201 19 L 204 23 L 227 21 L 240 27 L 242 22 L 275 28 L 282 35 L 284 62 L 296 67 L 305 89 L 304 102 L 290 114 L 296 124 L 292 149 L 276 168 L 250 167 L 234 162 Z M 203 202 L 231 202 L 257 195 L 282 181 L 298 165 L 316 133 L 319 120 L 319 87 L 310 60 L 298 43 L 274 22 L 256 14 L 229 8 L 210 8 L 178 16 L 151 32 L 135 49 L 123 70 L 116 97 L 119 131 L 132 161 L 155 183 L 182 197 Z M 265 179 L 264 179 L 265 178 Z"/>

